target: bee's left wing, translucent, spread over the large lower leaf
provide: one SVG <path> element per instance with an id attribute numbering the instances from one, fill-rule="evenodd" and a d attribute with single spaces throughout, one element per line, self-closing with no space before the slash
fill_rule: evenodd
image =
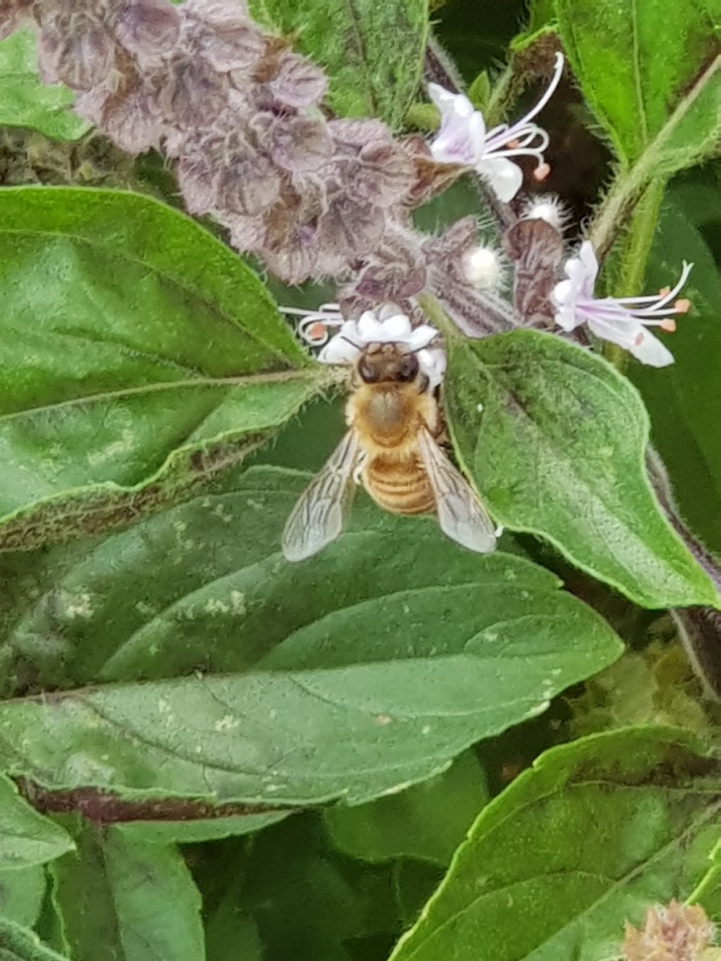
<path id="1" fill-rule="evenodd" d="M 359 450 L 358 433 L 348 431 L 298 498 L 283 531 L 286 560 L 304 560 L 317 554 L 343 530 L 355 493 L 353 472 Z"/>

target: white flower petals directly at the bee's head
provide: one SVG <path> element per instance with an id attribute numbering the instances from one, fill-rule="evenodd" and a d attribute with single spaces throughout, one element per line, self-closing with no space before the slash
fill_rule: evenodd
<path id="1" fill-rule="evenodd" d="M 346 320 L 340 330 L 318 355 L 321 363 L 351 364 L 360 357 L 368 344 L 404 344 L 410 353 L 416 354 L 421 371 L 435 387 L 445 373 L 445 351 L 431 347 L 438 332 L 431 324 L 411 327 L 405 313 L 389 313 L 383 318 L 380 311 L 365 310 L 358 320 Z"/>

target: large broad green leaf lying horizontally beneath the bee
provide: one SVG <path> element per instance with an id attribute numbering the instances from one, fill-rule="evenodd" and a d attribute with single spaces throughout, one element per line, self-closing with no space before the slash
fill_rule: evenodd
<path id="1" fill-rule="evenodd" d="M 442 772 L 620 653 L 547 571 L 360 498 L 336 544 L 286 563 L 280 532 L 307 481 L 254 468 L 232 492 L 57 552 L 44 599 L 25 581 L 5 658 L 26 682 L 212 673 L 4 702 L 6 767 L 136 799 L 366 801 Z"/>

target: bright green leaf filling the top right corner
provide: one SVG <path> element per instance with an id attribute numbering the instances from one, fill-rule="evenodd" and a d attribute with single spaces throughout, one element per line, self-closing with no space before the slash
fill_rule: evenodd
<path id="1" fill-rule="evenodd" d="M 671 173 L 721 135 L 713 0 L 557 0 L 563 47 L 621 160 Z"/>

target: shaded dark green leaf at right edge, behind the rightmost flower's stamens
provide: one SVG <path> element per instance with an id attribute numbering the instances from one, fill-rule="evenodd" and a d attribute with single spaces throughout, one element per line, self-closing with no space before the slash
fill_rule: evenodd
<path id="1" fill-rule="evenodd" d="M 706 215 L 714 203 L 721 209 L 717 194 L 701 190 L 698 197 Z M 658 290 L 673 283 L 683 260 L 693 263 L 685 291 L 693 307 L 669 342 L 675 363 L 653 372 L 634 364 L 629 373 L 648 407 L 654 442 L 684 519 L 721 554 L 721 273 L 697 226 L 704 210 L 689 216 L 696 198 L 690 184 L 666 191 L 644 284 Z"/>

